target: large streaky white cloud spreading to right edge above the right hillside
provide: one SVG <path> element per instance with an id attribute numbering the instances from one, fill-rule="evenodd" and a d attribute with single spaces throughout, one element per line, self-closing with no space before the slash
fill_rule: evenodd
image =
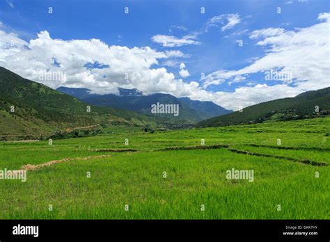
<path id="1" fill-rule="evenodd" d="M 226 102 L 235 100 L 242 106 L 281 97 L 293 97 L 306 90 L 317 90 L 330 86 L 330 46 L 329 23 L 330 13 L 322 13 L 317 18 L 321 22 L 313 26 L 286 31 L 285 29 L 261 29 L 253 31 L 251 39 L 257 45 L 266 48 L 265 56 L 253 61 L 240 70 L 219 70 L 205 77 L 203 87 L 217 85 L 226 81 L 241 79 L 246 74 L 256 74 L 269 70 L 280 70 L 291 73 L 293 81 L 271 86 L 272 83 L 253 87 L 237 88 L 235 92 L 217 92 L 223 98 L 217 102 L 223 106 L 237 108 L 236 104 Z M 244 80 L 239 80 L 244 81 Z"/>

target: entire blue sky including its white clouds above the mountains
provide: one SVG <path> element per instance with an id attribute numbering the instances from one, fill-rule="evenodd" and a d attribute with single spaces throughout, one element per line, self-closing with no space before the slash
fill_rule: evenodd
<path id="1" fill-rule="evenodd" d="M 49 7 L 52 13 L 49 13 Z M 128 14 L 125 14 L 126 7 Z M 205 8 L 205 13 L 201 13 L 201 8 Z M 278 8 L 281 8 L 281 13 L 278 13 Z M 318 59 L 321 58 L 319 61 L 325 61 L 329 67 L 328 20 L 329 1 L 325 0 L 1 0 L 0 30 L 6 36 L 0 44 L 6 48 L 3 47 L 0 65 L 34 81 L 38 81 L 36 73 L 40 73 L 40 68 L 44 68 L 45 72 L 65 72 L 67 80 L 45 83 L 53 88 L 86 87 L 93 92 L 105 93 L 116 92 L 116 87 L 122 86 L 142 89 L 146 94 L 166 92 L 191 99 L 210 100 L 235 109 L 330 86 L 329 79 L 316 83 L 308 79 L 308 75 L 312 76 L 313 73 L 305 73 L 308 67 L 320 66 L 317 61 L 312 63 L 316 58 L 308 58 L 313 53 L 325 51 L 328 58 L 324 59 L 323 54 Z M 324 26 L 328 26 L 328 30 Z M 47 40 L 48 35 L 40 37 L 38 33 L 42 31 L 47 31 L 52 41 Z M 29 72 L 26 68 L 19 69 L 19 65 L 14 63 L 15 58 L 9 53 L 10 47 L 5 42 L 10 38 L 15 42 L 14 54 L 19 51 L 25 61 L 32 63 L 31 58 L 36 61 L 34 67 L 28 68 Z M 91 39 L 100 40 L 102 44 L 91 43 Z M 292 40 L 291 45 L 286 39 Z M 45 40 L 46 44 L 40 41 L 31 44 L 31 40 Z M 81 43 L 79 40 L 87 42 Z M 242 46 L 239 46 L 240 40 Z M 93 45 L 93 49 L 94 45 L 100 45 L 100 49 L 103 49 L 103 44 L 127 47 L 122 51 L 126 56 L 123 57 L 120 48 L 109 49 L 109 61 L 107 56 L 97 56 L 100 53 L 95 54 L 95 58 L 91 58 L 93 52 L 87 54 L 91 50 L 90 45 Z M 59 50 L 50 51 L 52 45 Z M 63 52 L 68 48 L 65 53 L 59 53 L 61 45 Z M 42 51 L 42 47 L 47 49 Z M 155 53 L 150 54 L 146 47 Z M 295 53 L 292 48 L 296 50 Z M 47 58 L 38 56 L 45 51 L 53 53 L 47 53 Z M 172 51 L 172 54 L 168 51 Z M 295 63 L 301 59 L 299 55 L 305 52 L 306 60 L 311 59 L 311 63 L 304 61 L 305 66 L 302 61 Z M 68 55 L 77 59 L 72 60 Z M 294 55 L 297 56 L 294 58 Z M 284 63 L 281 61 L 283 56 L 288 56 L 285 60 L 292 58 L 292 62 Z M 90 58 L 90 61 L 86 61 Z M 135 65 L 139 58 L 148 61 L 145 65 Z M 65 64 L 69 59 L 74 65 Z M 55 64 L 48 66 L 49 60 Z M 102 67 L 97 68 L 95 63 L 100 63 Z M 120 73 L 117 72 L 118 68 L 115 70 L 117 63 L 123 65 L 122 74 L 130 76 L 128 81 L 125 78 L 118 81 Z M 181 63 L 183 65 L 180 67 Z M 78 65 L 81 66 L 77 68 Z M 326 67 L 324 69 L 323 65 L 320 70 L 311 68 L 311 72 L 322 79 L 329 77 L 329 70 Z M 34 74 L 33 68 L 36 71 Z M 77 72 L 72 72 L 72 68 Z M 244 68 L 249 70 L 245 71 Z M 141 70 L 146 72 L 142 73 Z M 273 70 L 282 70 L 284 74 L 292 75 L 292 79 L 265 79 L 265 72 Z M 80 73 L 82 71 L 88 71 L 89 74 L 83 75 Z M 201 75 L 205 78 L 201 78 Z"/>

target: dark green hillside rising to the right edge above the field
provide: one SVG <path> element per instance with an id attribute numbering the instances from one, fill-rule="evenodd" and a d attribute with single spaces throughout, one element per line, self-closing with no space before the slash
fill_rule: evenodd
<path id="1" fill-rule="evenodd" d="M 315 111 L 319 107 L 319 112 Z M 265 121 L 313 118 L 328 114 L 330 110 L 330 88 L 308 91 L 284 99 L 262 102 L 227 115 L 203 120 L 198 127 L 224 126 Z"/>

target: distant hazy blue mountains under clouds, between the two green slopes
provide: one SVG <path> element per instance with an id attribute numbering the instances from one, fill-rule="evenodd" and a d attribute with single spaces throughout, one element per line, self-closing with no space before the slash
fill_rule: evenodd
<path id="1" fill-rule="evenodd" d="M 56 90 L 64 92 L 81 101 L 95 106 L 112 106 L 113 108 L 125 109 L 138 113 L 150 115 L 152 104 L 179 104 L 180 118 L 187 120 L 187 123 L 196 123 L 207 118 L 224 115 L 233 112 L 227 110 L 213 102 L 194 101 L 188 97 L 177 98 L 173 95 L 156 93 L 152 95 L 143 95 L 136 89 L 118 88 L 119 95 L 91 94 L 86 88 L 65 88 L 60 87 Z M 173 115 L 166 115 L 170 118 Z"/>

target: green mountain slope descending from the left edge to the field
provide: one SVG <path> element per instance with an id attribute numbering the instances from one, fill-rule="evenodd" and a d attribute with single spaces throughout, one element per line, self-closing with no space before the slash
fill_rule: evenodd
<path id="1" fill-rule="evenodd" d="M 94 124 L 155 124 L 132 111 L 91 106 L 0 67 L 0 134 L 52 134 Z"/>

